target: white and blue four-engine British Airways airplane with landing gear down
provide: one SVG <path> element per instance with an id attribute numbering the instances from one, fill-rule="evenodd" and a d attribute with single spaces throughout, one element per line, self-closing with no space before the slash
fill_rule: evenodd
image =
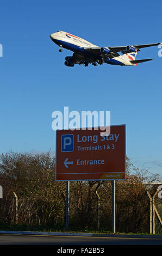
<path id="1" fill-rule="evenodd" d="M 85 66 L 92 64 L 97 66 L 97 64 L 102 65 L 103 63 L 120 66 L 136 66 L 138 63 L 152 60 L 135 60 L 136 54 L 140 51 L 140 48 L 162 44 L 161 42 L 158 42 L 157 44 L 148 45 L 99 47 L 76 35 L 64 31 L 53 33 L 50 35 L 50 38 L 55 44 L 60 46 L 60 52 L 63 51 L 62 48 L 66 48 L 73 52 L 73 56 L 67 56 L 65 58 L 66 66 L 74 66 L 74 64 L 83 64 Z M 120 55 L 119 52 L 121 52 L 122 55 Z"/>

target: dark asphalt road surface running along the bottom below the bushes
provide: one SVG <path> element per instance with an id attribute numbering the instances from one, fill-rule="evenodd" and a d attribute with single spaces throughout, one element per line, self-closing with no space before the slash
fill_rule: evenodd
<path id="1" fill-rule="evenodd" d="M 1 245 L 162 245 L 158 238 L 0 234 Z"/>

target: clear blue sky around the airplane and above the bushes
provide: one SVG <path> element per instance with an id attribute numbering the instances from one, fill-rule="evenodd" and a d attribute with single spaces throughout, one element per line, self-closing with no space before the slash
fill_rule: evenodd
<path id="1" fill-rule="evenodd" d="M 161 63 L 157 46 L 136 67 L 64 65 L 72 52 L 49 38 L 58 30 L 98 46 L 161 42 L 161 1 L 1 1 L 0 154 L 55 150 L 52 112 L 111 111 L 126 124 L 127 155 L 161 172 Z M 155 167 L 155 168 L 154 168 Z"/>

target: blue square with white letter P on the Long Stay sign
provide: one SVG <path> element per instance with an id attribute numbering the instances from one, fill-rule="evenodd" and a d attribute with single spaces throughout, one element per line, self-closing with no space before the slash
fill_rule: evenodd
<path id="1" fill-rule="evenodd" d="M 73 152 L 74 150 L 74 135 L 61 135 L 61 152 Z"/>

